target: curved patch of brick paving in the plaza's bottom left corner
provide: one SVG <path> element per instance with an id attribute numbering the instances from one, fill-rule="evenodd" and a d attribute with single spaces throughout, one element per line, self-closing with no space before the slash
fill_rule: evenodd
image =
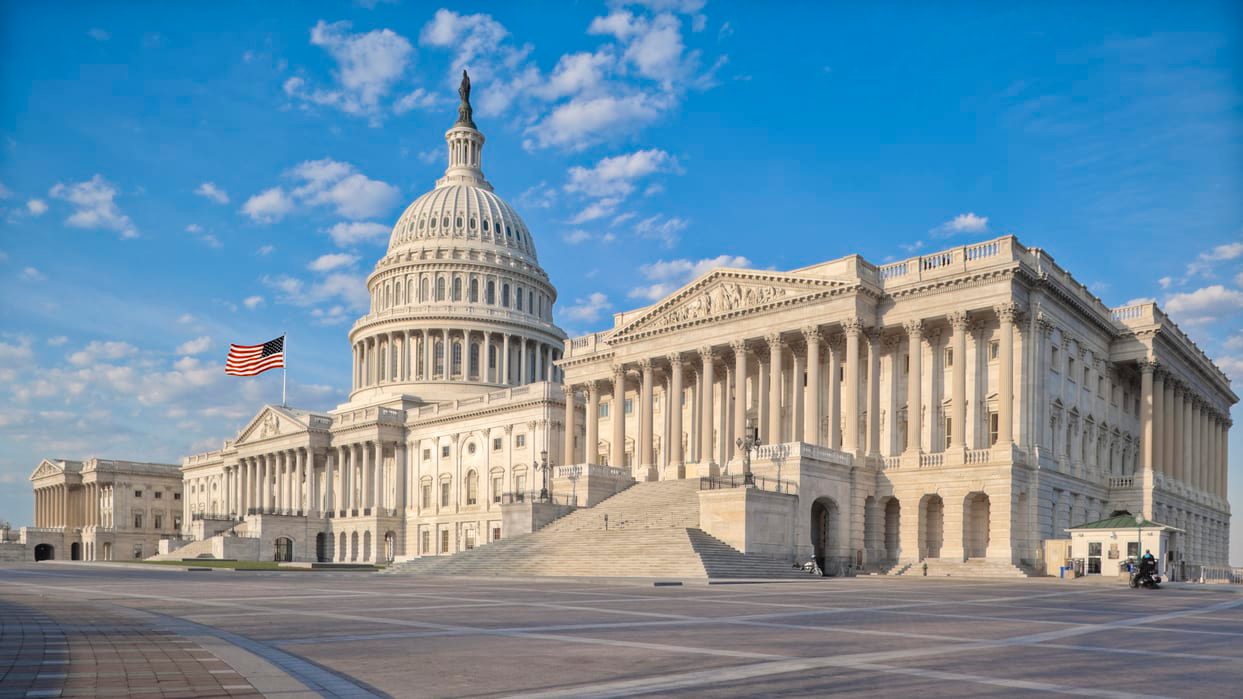
<path id="1" fill-rule="evenodd" d="M 185 637 L 107 606 L 5 591 L 0 699 L 261 697 Z"/>

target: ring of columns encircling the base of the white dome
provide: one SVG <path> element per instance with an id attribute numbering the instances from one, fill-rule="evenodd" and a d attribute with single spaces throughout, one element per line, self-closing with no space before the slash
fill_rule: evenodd
<path id="1" fill-rule="evenodd" d="M 538 338 L 472 328 L 382 332 L 354 343 L 353 388 L 409 381 L 522 386 L 559 381 L 561 348 Z"/>

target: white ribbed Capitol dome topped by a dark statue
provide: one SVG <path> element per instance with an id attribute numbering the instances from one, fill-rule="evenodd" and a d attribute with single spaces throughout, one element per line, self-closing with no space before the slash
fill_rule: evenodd
<path id="1" fill-rule="evenodd" d="M 445 175 L 401 213 L 367 279 L 370 310 L 349 332 L 351 400 L 444 402 L 561 378 L 557 290 L 527 225 L 484 177 L 465 72 L 459 93 Z"/>

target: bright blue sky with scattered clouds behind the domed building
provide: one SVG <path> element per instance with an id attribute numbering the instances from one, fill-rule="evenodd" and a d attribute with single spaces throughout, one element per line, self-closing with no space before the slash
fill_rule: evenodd
<path id="1" fill-rule="evenodd" d="M 713 265 L 1013 233 L 1243 376 L 1238 6 L 1006 5 L 5 4 L 0 519 L 42 456 L 218 448 L 280 396 L 230 341 L 287 331 L 291 403 L 342 402 L 461 66 L 572 333 Z"/>

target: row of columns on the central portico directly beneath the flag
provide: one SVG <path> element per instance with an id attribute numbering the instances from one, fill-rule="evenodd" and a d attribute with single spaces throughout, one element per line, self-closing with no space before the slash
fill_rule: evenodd
<path id="1" fill-rule="evenodd" d="M 384 468 L 385 447 L 395 466 Z M 405 444 L 358 442 L 244 456 L 225 466 L 227 510 L 240 514 L 359 516 L 404 506 Z"/>

